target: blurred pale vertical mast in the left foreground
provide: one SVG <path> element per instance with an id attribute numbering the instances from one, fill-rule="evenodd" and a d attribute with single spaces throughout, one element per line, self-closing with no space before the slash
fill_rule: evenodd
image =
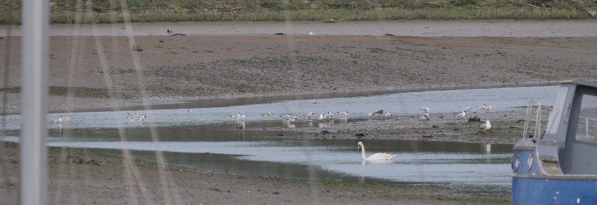
<path id="1" fill-rule="evenodd" d="M 22 8 L 19 204 L 46 204 L 48 1 L 23 0 Z"/>

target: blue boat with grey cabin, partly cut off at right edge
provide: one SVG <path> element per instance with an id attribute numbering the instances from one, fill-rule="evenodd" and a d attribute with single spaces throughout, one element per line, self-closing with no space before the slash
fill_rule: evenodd
<path id="1" fill-rule="evenodd" d="M 597 83 L 562 82 L 544 133 L 546 108 L 536 103 L 513 148 L 512 204 L 597 204 Z M 533 107 L 537 125 L 527 137 Z"/>

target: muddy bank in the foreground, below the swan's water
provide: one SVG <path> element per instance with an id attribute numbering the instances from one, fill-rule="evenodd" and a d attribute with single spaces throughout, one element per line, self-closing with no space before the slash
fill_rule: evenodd
<path id="1" fill-rule="evenodd" d="M 2 204 L 17 203 L 17 145 L 4 142 Z M 233 176 L 50 148 L 48 204 L 507 204 L 436 185 L 373 185 Z M 161 168 L 160 168 L 161 167 Z"/>

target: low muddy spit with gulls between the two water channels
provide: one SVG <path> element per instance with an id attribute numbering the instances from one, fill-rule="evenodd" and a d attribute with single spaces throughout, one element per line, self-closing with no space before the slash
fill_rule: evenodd
<path id="1" fill-rule="evenodd" d="M 533 112 L 536 111 L 536 107 Z M 316 128 L 277 128 L 279 139 L 311 138 L 311 139 L 414 139 L 422 141 L 456 141 L 482 144 L 516 144 L 521 138 L 525 125 L 525 108 L 512 111 L 471 111 L 460 119 L 458 113 L 429 114 L 429 120 L 420 116 L 375 116 L 368 120 L 350 120 L 336 117 L 333 121 L 312 120 Z M 535 131 L 536 113 L 530 119 L 529 135 Z M 549 111 L 541 114 L 541 130 L 545 130 Z M 471 119 L 473 118 L 473 119 Z M 470 120 L 470 121 L 469 121 Z M 476 121 L 478 120 L 478 121 Z M 479 128 L 490 120 L 491 129 Z M 317 127 L 317 126 L 320 127 Z M 249 128 L 268 129 L 268 128 Z M 284 131 L 299 131 L 298 135 Z"/>

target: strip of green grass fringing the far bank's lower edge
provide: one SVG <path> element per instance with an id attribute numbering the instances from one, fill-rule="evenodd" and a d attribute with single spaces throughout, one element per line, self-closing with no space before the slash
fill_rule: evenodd
<path id="1" fill-rule="evenodd" d="M 76 13 L 60 13 L 51 15 L 51 23 L 75 23 Z M 1 17 L 0 23 L 7 23 Z M 577 19 L 589 18 L 590 15 L 584 10 L 564 10 L 539 8 L 470 8 L 470 9 L 393 9 L 383 11 L 354 11 L 354 10 L 303 10 L 268 13 L 247 13 L 241 15 L 206 15 L 206 14 L 130 14 L 131 22 L 163 22 L 163 21 L 325 21 L 330 19 L 341 19 L 343 21 L 364 21 L 364 20 L 484 20 L 484 19 Z M 78 23 L 124 23 L 121 13 L 106 14 L 95 13 L 91 17 L 82 15 Z M 20 22 L 16 22 L 20 24 Z"/>

